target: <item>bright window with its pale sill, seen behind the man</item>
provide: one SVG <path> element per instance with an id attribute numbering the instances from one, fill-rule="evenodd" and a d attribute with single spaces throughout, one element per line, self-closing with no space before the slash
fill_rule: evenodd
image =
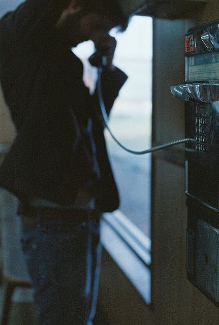
<path id="1" fill-rule="evenodd" d="M 151 144 L 152 19 L 134 16 L 127 31 L 111 35 L 117 39 L 114 64 L 128 81 L 112 108 L 109 126 L 114 136 L 133 150 Z M 95 68 L 87 57 L 92 42 L 74 49 L 84 63 L 84 81 L 93 91 Z M 102 242 L 121 270 L 149 305 L 150 276 L 150 155 L 133 155 L 120 148 L 105 131 L 108 153 L 120 194 L 120 208 L 105 214 Z M 118 249 L 119 247 L 119 249 Z"/>

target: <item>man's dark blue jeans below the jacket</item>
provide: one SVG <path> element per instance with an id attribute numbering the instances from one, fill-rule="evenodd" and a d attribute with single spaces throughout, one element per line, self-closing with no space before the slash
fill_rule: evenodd
<path id="1" fill-rule="evenodd" d="M 21 243 L 39 325 L 92 325 L 101 260 L 99 221 L 40 220 Z"/>

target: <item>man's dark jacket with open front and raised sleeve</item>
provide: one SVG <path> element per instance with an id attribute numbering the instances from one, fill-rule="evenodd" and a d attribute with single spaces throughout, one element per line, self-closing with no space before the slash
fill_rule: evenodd
<path id="1" fill-rule="evenodd" d="M 0 78 L 17 137 L 0 169 L 0 186 L 17 197 L 72 204 L 84 174 L 83 127 L 92 118 L 101 172 L 102 211 L 118 207 L 97 94 L 82 82 L 81 61 L 54 27 L 66 0 L 27 0 L 0 22 Z M 103 95 L 110 111 L 127 76 L 104 71 Z"/>

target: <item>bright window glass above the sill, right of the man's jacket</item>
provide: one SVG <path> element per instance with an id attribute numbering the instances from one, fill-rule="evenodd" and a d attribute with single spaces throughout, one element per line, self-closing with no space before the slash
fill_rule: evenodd
<path id="1" fill-rule="evenodd" d="M 114 135 L 128 148 L 151 144 L 152 19 L 134 16 L 118 34 L 115 65 L 129 79 L 121 88 L 110 115 Z M 120 211 L 150 237 L 150 155 L 124 151 L 106 131 L 108 151 L 120 193 Z"/>

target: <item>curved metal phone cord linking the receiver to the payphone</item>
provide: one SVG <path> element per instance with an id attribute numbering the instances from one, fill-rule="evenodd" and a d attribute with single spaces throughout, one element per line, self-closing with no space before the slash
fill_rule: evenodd
<path id="1" fill-rule="evenodd" d="M 104 103 L 104 99 L 103 99 L 103 93 L 102 93 L 102 86 L 101 86 L 101 74 L 102 74 L 102 68 L 98 68 L 98 80 L 97 80 L 97 90 L 98 90 L 98 96 L 99 96 L 99 102 L 100 102 L 100 107 L 101 107 L 101 112 L 103 115 L 103 122 L 104 122 L 104 126 L 108 129 L 109 134 L 111 135 L 111 137 L 113 138 L 113 140 L 124 150 L 133 153 L 133 154 L 137 154 L 137 155 L 141 155 L 141 154 L 146 154 L 149 152 L 153 152 L 153 151 L 157 151 L 157 150 L 161 150 L 167 147 L 171 147 L 171 146 L 175 146 L 177 144 L 180 143 L 185 143 L 185 142 L 195 142 L 195 139 L 192 138 L 185 138 L 185 139 L 180 139 L 180 140 L 175 140 L 175 141 L 170 141 L 170 142 L 166 142 L 164 144 L 152 147 L 150 149 L 146 149 L 143 151 L 135 151 L 135 150 L 131 150 L 127 147 L 125 147 L 120 141 L 118 141 L 116 139 L 116 137 L 113 135 L 109 125 L 108 125 L 108 116 L 107 116 L 107 112 L 106 112 L 106 107 L 105 107 L 105 103 Z"/>

